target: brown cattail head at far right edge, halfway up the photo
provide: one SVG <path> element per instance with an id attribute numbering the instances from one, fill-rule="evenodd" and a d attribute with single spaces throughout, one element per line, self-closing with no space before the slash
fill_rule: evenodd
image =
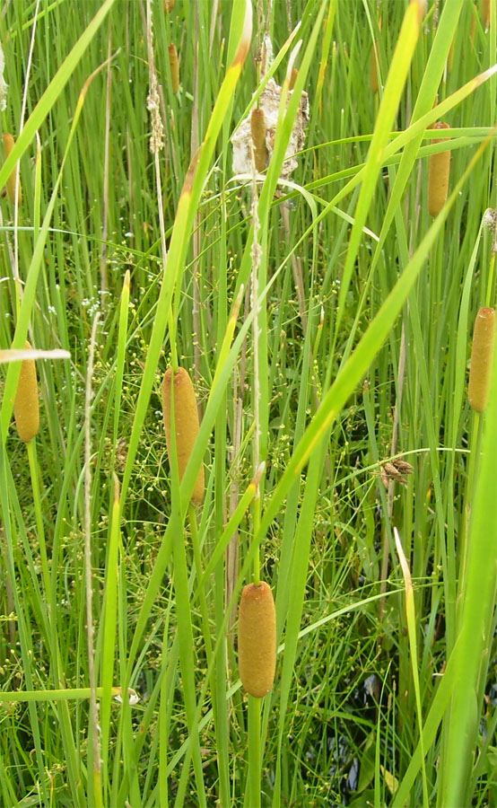
<path id="1" fill-rule="evenodd" d="M 469 369 L 469 403 L 476 412 L 487 405 L 495 341 L 495 310 L 484 307 L 476 314 Z"/>

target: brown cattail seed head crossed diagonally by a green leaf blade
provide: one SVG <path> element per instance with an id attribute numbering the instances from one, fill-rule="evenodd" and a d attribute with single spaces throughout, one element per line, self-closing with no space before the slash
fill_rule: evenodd
<path id="1" fill-rule="evenodd" d="M 166 428 L 166 444 L 171 462 L 171 411 L 170 411 L 170 388 L 173 378 L 172 370 L 164 373 L 162 382 L 162 412 L 164 414 L 164 426 Z M 193 384 L 187 371 L 179 367 L 174 373 L 174 416 L 176 423 L 176 456 L 178 458 L 179 481 L 187 468 L 190 454 L 198 435 L 198 410 L 196 408 L 196 397 Z M 192 503 L 202 505 L 204 499 L 204 467 L 201 466 L 196 478 L 195 488 L 192 494 Z"/>

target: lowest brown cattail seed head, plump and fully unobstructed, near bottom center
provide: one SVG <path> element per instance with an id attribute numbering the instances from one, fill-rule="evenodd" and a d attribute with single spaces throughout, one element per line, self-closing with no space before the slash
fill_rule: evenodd
<path id="1" fill-rule="evenodd" d="M 276 667 L 276 613 L 271 587 L 243 588 L 238 624 L 240 679 L 250 696 L 262 698 L 273 687 Z"/>

